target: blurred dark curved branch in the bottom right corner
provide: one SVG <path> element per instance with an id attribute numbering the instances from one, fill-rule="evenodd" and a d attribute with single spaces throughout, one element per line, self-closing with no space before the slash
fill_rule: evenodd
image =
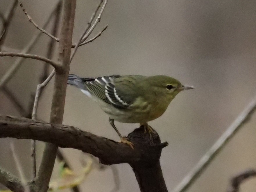
<path id="1" fill-rule="evenodd" d="M 231 185 L 228 189 L 228 192 L 238 192 L 242 182 L 255 176 L 256 176 L 255 169 L 249 169 L 247 171 L 244 171 L 243 173 L 239 173 L 238 175 L 232 178 Z"/>

